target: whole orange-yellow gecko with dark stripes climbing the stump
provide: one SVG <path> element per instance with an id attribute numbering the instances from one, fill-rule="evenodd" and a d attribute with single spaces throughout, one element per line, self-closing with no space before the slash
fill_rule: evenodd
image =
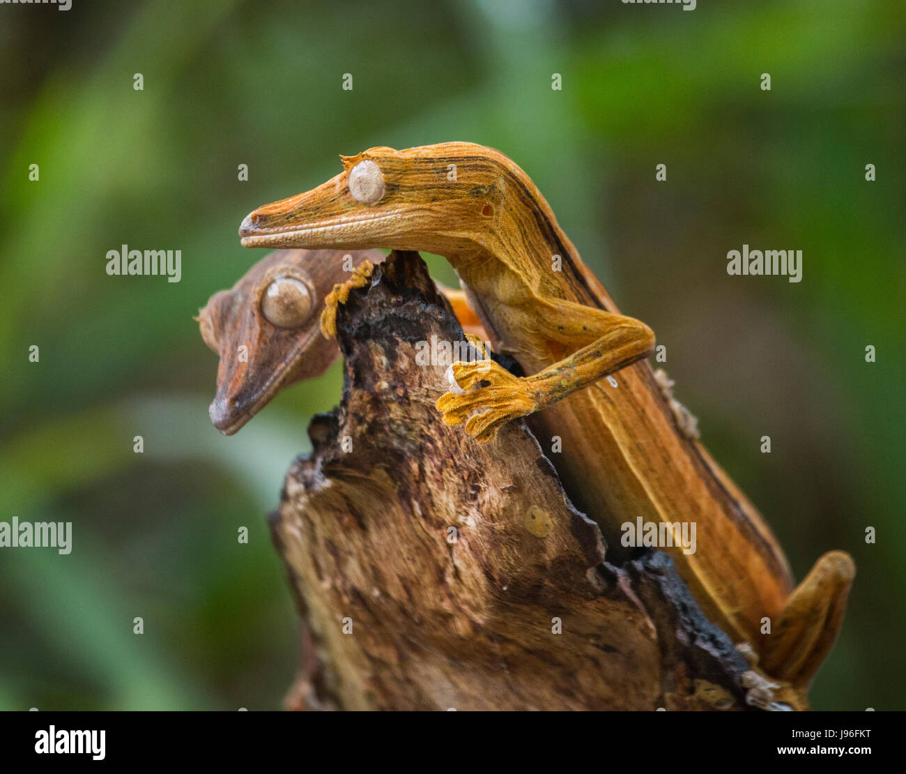
<path id="1" fill-rule="evenodd" d="M 372 148 L 342 164 L 323 185 L 256 209 L 240 227 L 242 244 L 445 256 L 495 351 L 529 374 L 454 363 L 461 389 L 439 399 L 445 421 L 465 422 L 488 441 L 506 421 L 531 415 L 539 438 L 562 440 L 564 453 L 552 458 L 564 486 L 615 554 L 623 526 L 637 517 L 696 523 L 704 538 L 696 553 L 666 550 L 699 605 L 752 643 L 766 672 L 807 687 L 842 624 L 853 560 L 827 553 L 793 588 L 757 509 L 679 428 L 642 360 L 651 330 L 619 313 L 525 172 L 466 142 Z M 596 383 L 616 372 L 611 384 Z"/>

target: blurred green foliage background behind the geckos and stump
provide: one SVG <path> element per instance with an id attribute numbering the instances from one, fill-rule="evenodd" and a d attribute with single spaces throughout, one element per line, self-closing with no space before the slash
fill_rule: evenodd
<path id="1" fill-rule="evenodd" d="M 298 634 L 265 514 L 341 370 L 223 438 L 192 314 L 265 255 L 246 213 L 337 154 L 471 140 L 667 344 L 797 578 L 853 554 L 814 707 L 902 709 L 904 33 L 900 2 L 853 0 L 0 6 L 0 519 L 74 533 L 0 551 L 0 708 L 279 706 Z M 122 243 L 181 249 L 182 281 L 107 276 Z M 802 249 L 802 283 L 728 276 L 743 243 Z"/>

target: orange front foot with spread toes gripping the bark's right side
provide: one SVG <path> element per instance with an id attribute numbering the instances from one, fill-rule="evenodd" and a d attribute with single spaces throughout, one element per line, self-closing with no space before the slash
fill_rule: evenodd
<path id="1" fill-rule="evenodd" d="M 437 409 L 448 425 L 458 425 L 466 421 L 469 414 L 479 411 L 466 421 L 466 432 L 478 443 L 493 440 L 506 422 L 538 408 L 535 395 L 525 387 L 525 382 L 493 360 L 453 363 L 450 372 L 462 390 L 488 382 L 471 392 L 447 392 L 437 402 Z"/>

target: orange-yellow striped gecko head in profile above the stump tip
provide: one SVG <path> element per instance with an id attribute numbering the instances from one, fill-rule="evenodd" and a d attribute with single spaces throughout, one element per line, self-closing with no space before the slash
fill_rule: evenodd
<path id="1" fill-rule="evenodd" d="M 518 169 L 469 142 L 371 148 L 341 159 L 336 177 L 250 213 L 239 228 L 243 246 L 467 248 L 495 229 L 507 178 Z"/>

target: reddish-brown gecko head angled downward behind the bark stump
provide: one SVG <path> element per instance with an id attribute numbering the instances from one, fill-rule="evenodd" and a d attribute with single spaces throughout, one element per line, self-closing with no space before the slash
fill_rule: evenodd
<path id="1" fill-rule="evenodd" d="M 339 258 L 339 260 L 338 260 Z M 208 413 L 218 431 L 232 435 L 277 392 L 321 375 L 339 355 L 320 329 L 324 298 L 378 251 L 321 255 L 280 250 L 259 261 L 231 290 L 212 295 L 198 312 L 207 346 L 220 356 L 217 394 Z"/>

